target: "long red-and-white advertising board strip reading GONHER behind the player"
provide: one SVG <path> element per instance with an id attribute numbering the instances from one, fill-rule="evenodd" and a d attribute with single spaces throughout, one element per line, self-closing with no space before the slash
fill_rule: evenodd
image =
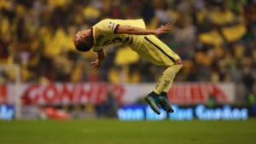
<path id="1" fill-rule="evenodd" d="M 20 97 L 26 104 L 96 104 L 108 99 L 113 93 L 121 104 L 136 103 L 154 89 L 154 84 L 21 84 Z M 4 86 L 2 86 L 4 88 Z M 8 84 L 4 99 L 15 103 L 15 85 Z M 206 103 L 212 96 L 219 104 L 235 101 L 235 84 L 176 83 L 168 92 L 172 104 L 194 105 Z"/>

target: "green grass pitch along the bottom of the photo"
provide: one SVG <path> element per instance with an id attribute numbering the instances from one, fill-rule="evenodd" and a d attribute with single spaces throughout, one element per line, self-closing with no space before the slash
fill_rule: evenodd
<path id="1" fill-rule="evenodd" d="M 247 121 L 0 121 L 0 144 L 253 144 Z"/>

